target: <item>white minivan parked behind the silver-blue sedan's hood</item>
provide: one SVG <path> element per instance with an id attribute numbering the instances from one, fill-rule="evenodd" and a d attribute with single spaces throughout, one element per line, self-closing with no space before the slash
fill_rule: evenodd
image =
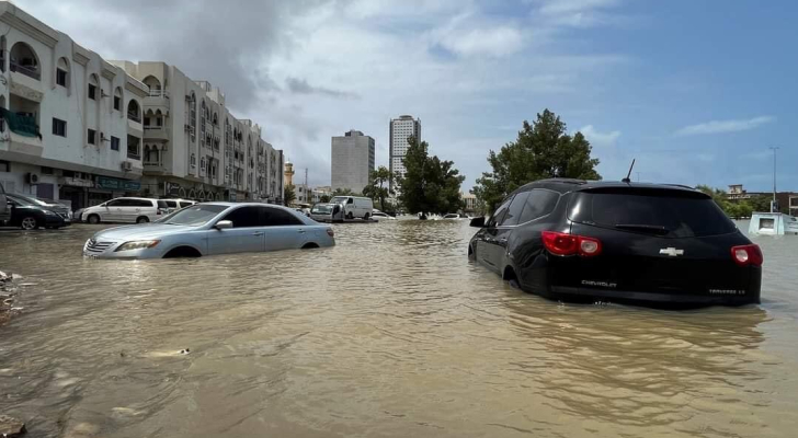
<path id="1" fill-rule="evenodd" d="M 163 199 L 116 198 L 83 209 L 81 221 L 146 223 L 162 218 L 168 211 L 169 205 Z"/>

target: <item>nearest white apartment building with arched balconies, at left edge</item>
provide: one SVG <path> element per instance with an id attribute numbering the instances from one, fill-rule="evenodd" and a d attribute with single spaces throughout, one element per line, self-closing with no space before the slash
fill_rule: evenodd
<path id="1" fill-rule="evenodd" d="M 147 87 L 0 1 L 0 182 L 72 208 L 137 194 Z"/>

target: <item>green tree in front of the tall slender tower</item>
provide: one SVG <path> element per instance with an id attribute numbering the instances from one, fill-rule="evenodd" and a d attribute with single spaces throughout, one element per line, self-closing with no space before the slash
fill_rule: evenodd
<path id="1" fill-rule="evenodd" d="M 436 212 L 445 215 L 463 208 L 460 185 L 465 176 L 454 168 L 454 162 L 429 154 L 426 141 L 409 138 L 410 147 L 404 153 L 404 175 L 398 177 L 400 203 L 411 212 Z"/>

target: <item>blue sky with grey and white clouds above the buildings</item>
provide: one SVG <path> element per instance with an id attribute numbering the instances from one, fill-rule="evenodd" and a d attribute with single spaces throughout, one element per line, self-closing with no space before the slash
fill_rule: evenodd
<path id="1" fill-rule="evenodd" d="M 220 87 L 311 185 L 330 142 L 421 118 L 469 189 L 549 108 L 605 180 L 798 191 L 793 0 L 15 0 L 106 59 L 163 60 Z"/>

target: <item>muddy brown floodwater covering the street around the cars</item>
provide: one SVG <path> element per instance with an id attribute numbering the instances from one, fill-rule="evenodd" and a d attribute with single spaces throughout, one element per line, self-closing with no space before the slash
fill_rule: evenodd
<path id="1" fill-rule="evenodd" d="M 674 312 L 512 289 L 461 221 L 151 262 L 83 260 L 95 230 L 0 231 L 0 413 L 30 437 L 798 436 L 795 238 L 756 240 L 762 306 Z"/>

